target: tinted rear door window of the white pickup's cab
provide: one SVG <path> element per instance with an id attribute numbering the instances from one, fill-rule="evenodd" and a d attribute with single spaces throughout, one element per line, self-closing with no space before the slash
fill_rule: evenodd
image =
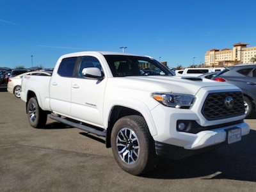
<path id="1" fill-rule="evenodd" d="M 72 77 L 77 58 L 65 58 L 61 61 L 58 74 L 62 77 Z"/>

